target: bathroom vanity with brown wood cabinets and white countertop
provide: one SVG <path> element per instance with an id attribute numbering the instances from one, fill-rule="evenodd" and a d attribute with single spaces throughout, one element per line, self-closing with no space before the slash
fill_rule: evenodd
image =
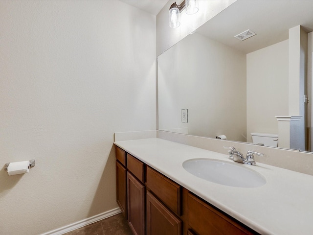
<path id="1" fill-rule="evenodd" d="M 311 175 L 266 164 L 240 164 L 262 175 L 266 184 L 226 186 L 183 168 L 191 159 L 239 164 L 226 154 L 158 138 L 115 145 L 117 203 L 134 234 L 313 233 Z"/>

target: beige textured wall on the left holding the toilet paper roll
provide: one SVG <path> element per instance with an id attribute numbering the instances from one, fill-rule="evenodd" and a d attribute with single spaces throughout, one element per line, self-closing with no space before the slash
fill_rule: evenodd
<path id="1" fill-rule="evenodd" d="M 0 234 L 117 208 L 113 133 L 156 129 L 156 17 L 117 0 L 0 1 Z M 144 37 L 143 37 L 144 35 Z"/>

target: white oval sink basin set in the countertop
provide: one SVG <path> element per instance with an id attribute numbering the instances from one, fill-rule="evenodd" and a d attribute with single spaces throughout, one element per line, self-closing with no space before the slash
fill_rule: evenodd
<path id="1" fill-rule="evenodd" d="M 220 185 L 256 188 L 266 184 L 263 175 L 240 163 L 228 163 L 216 159 L 191 159 L 183 162 L 182 167 L 201 179 Z"/>

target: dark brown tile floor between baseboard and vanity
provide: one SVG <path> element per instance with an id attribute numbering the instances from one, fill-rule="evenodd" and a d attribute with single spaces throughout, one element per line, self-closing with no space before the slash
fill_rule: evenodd
<path id="1" fill-rule="evenodd" d="M 64 235 L 133 235 L 121 213 L 100 220 Z"/>

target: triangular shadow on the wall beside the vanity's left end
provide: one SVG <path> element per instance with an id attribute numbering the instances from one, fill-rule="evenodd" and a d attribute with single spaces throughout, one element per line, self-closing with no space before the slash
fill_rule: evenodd
<path id="1" fill-rule="evenodd" d="M 105 156 L 104 156 L 105 157 Z M 112 145 L 107 163 L 93 197 L 88 217 L 117 208 L 115 178 L 115 145 Z"/>

